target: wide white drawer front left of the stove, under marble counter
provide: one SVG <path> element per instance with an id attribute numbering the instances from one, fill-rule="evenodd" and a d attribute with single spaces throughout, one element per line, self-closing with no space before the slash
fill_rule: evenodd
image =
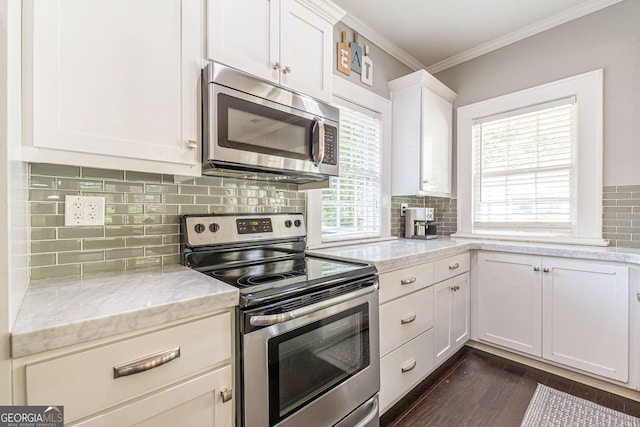
<path id="1" fill-rule="evenodd" d="M 180 356 L 114 378 L 114 367 L 180 348 Z M 231 358 L 231 315 L 174 326 L 26 366 L 28 405 L 64 405 L 72 421 L 193 376 Z"/>

